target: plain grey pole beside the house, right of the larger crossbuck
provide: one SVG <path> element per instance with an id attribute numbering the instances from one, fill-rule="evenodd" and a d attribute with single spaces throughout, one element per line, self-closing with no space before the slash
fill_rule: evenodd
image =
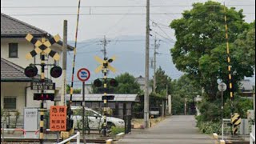
<path id="1" fill-rule="evenodd" d="M 65 106 L 66 94 L 66 49 L 67 49 L 67 20 L 64 20 L 63 25 L 63 52 L 62 52 L 62 94 L 59 106 Z"/>

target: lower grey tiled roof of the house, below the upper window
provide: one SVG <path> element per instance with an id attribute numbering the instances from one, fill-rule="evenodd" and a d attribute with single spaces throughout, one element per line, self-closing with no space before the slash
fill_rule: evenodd
<path id="1" fill-rule="evenodd" d="M 27 78 L 21 66 L 1 58 L 1 82 L 30 82 L 32 78 Z M 39 75 L 35 78 L 39 79 Z"/>

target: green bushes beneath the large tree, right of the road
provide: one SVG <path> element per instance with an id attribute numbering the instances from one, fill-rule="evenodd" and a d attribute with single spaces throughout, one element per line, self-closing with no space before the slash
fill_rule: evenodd
<path id="1" fill-rule="evenodd" d="M 231 113 L 231 100 L 227 98 L 224 103 L 224 118 L 230 118 Z M 199 110 L 201 115 L 197 116 L 197 127 L 200 132 L 204 134 L 217 133 L 221 134 L 221 101 L 220 99 L 215 101 L 203 100 L 199 104 Z M 247 98 L 241 98 L 235 96 L 234 98 L 234 112 L 240 114 L 241 118 L 246 118 L 247 110 L 253 109 L 253 101 Z"/>

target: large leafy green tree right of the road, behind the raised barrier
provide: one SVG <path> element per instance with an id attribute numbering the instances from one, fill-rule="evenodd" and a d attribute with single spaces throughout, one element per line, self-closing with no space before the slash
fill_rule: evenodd
<path id="1" fill-rule="evenodd" d="M 206 94 L 214 100 L 218 91 L 218 79 L 228 79 L 226 62 L 226 38 L 224 6 L 218 2 L 194 3 L 192 10 L 182 13 L 183 17 L 170 23 L 175 30 L 177 42 L 170 50 L 175 66 L 204 87 Z M 244 22 L 242 10 L 226 8 L 230 43 L 249 25 Z M 236 47 L 230 46 L 233 83 L 244 76 L 251 76 L 253 70 L 234 57 Z M 235 86 L 237 89 L 238 86 Z"/>

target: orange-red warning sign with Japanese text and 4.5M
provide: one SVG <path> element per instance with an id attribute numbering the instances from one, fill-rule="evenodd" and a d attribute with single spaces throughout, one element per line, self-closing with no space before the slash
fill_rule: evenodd
<path id="1" fill-rule="evenodd" d="M 50 106 L 50 131 L 66 131 L 66 106 Z"/>

